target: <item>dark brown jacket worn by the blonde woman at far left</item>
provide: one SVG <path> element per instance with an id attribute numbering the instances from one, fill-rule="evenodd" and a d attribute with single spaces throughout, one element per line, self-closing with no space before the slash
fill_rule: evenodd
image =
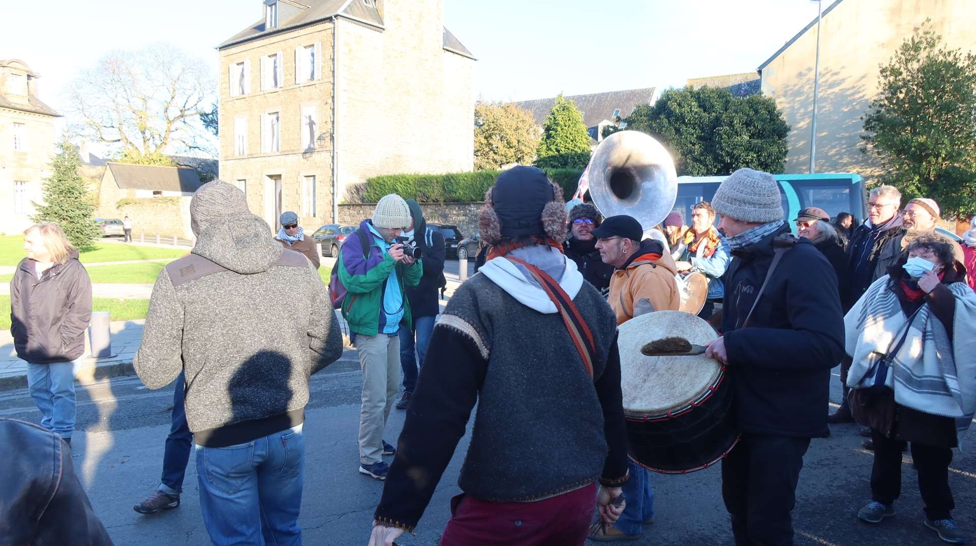
<path id="1" fill-rule="evenodd" d="M 92 282 L 74 251 L 37 280 L 35 261 L 20 260 L 10 282 L 10 332 L 21 360 L 70 362 L 85 352 L 92 320 Z"/>

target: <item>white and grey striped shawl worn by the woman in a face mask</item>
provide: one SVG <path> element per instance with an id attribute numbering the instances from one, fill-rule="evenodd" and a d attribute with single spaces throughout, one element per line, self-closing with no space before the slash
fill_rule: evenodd
<path id="1" fill-rule="evenodd" d="M 895 392 L 895 402 L 906 408 L 954 418 L 961 450 L 962 437 L 976 414 L 976 292 L 965 283 L 945 285 L 956 298 L 950 341 L 927 303 L 908 325 L 890 283 L 887 276 L 874 281 L 844 317 L 845 347 L 852 357 L 847 386 L 872 386 L 869 370 L 878 355 L 893 350 L 910 328 L 905 343 L 891 355 L 892 372 L 885 385 Z"/>

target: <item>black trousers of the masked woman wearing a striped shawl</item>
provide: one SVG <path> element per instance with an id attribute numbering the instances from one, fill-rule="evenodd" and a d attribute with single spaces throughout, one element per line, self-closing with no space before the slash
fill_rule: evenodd
<path id="1" fill-rule="evenodd" d="M 902 449 L 905 442 L 892 440 L 872 429 L 874 466 L 871 469 L 871 497 L 891 505 L 902 492 Z M 953 450 L 912 442 L 912 460 L 918 469 L 918 492 L 925 503 L 925 517 L 946 520 L 956 508 L 949 489 L 949 463 Z"/>

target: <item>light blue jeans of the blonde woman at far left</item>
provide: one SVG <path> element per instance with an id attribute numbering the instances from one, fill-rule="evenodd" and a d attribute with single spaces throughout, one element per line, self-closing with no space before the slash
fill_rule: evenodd
<path id="1" fill-rule="evenodd" d="M 27 363 L 27 390 L 37 409 L 41 410 L 41 426 L 61 438 L 71 438 L 74 432 L 74 370 L 77 366 L 77 360 Z"/>

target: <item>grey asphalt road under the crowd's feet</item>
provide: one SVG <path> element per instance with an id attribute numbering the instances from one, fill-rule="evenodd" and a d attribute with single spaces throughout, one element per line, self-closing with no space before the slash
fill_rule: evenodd
<path id="1" fill-rule="evenodd" d="M 305 544 L 364 545 L 382 484 L 356 472 L 356 433 L 361 375 L 355 354 L 315 375 L 307 408 L 305 495 L 301 524 Z M 834 400 L 839 385 L 834 379 Z M 158 484 L 163 442 L 169 430 L 171 387 L 150 391 L 136 377 L 117 377 L 78 391 L 78 432 L 74 464 L 93 506 L 120 545 L 204 545 L 209 539 L 200 517 L 197 475 L 190 457 L 183 505 L 154 516 L 132 506 Z M 825 410 L 827 410 L 825 408 Z M 0 415 L 39 421 L 27 393 L 0 395 Z M 393 442 L 403 411 L 393 409 L 386 440 Z M 869 498 L 872 454 L 861 448 L 855 425 L 834 426 L 833 437 L 814 440 L 800 475 L 793 512 L 797 545 L 942 544 L 921 525 L 921 500 L 911 464 L 903 465 L 898 515 L 880 526 L 855 518 Z M 418 533 L 405 545 L 434 545 L 449 518 L 451 496 L 468 438 L 462 441 L 434 494 Z M 572 446 L 566 446 L 571 449 Z M 906 455 L 906 461 L 910 458 Z M 713 467 L 687 476 L 652 476 L 656 523 L 644 526 L 633 545 L 731 544 L 728 516 L 721 501 L 719 471 Z M 976 539 L 976 456 L 956 453 L 950 473 L 956 521 Z M 513 545 L 515 546 L 515 545 Z"/>

